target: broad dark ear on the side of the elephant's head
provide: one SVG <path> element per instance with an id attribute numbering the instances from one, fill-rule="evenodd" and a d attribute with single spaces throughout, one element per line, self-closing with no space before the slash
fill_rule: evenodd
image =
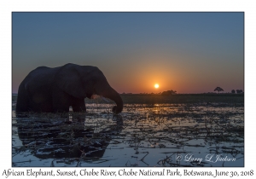
<path id="1" fill-rule="evenodd" d="M 62 68 L 55 78 L 60 90 L 63 90 L 76 98 L 86 97 L 82 79 L 75 66 L 66 66 L 65 68 Z"/>

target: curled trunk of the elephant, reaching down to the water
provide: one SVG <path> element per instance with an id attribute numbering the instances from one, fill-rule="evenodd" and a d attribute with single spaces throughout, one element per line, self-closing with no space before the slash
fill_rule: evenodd
<path id="1" fill-rule="evenodd" d="M 112 87 L 109 87 L 109 90 L 106 90 L 106 92 L 103 92 L 103 97 L 106 97 L 116 103 L 117 106 L 113 107 L 113 113 L 121 113 L 123 110 L 123 100 L 119 93 L 116 90 L 113 90 Z"/>

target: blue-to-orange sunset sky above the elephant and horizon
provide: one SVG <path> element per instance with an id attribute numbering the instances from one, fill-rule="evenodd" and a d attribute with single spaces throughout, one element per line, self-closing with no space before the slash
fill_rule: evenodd
<path id="1" fill-rule="evenodd" d="M 244 90 L 244 13 L 12 13 L 13 93 L 67 63 L 97 66 L 119 93 Z"/>

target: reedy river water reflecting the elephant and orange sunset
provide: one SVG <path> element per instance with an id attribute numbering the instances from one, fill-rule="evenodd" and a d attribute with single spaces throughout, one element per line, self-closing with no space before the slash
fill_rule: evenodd
<path id="1" fill-rule="evenodd" d="M 244 107 L 109 104 L 12 117 L 15 166 L 244 166 Z"/>

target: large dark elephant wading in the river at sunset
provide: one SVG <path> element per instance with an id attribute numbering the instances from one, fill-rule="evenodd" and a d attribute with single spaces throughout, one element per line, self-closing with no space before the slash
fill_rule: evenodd
<path id="1" fill-rule="evenodd" d="M 84 98 L 102 95 L 117 106 L 113 113 L 123 110 L 123 101 L 107 78 L 96 66 L 68 63 L 50 68 L 39 66 L 21 82 L 18 90 L 16 113 L 20 112 L 73 112 L 86 111 Z"/>

